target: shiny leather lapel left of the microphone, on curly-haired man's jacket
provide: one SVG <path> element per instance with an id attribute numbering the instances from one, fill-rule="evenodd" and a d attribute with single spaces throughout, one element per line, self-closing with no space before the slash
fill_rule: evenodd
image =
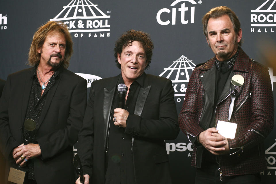
<path id="1" fill-rule="evenodd" d="M 110 116 L 111 116 L 111 108 L 114 99 L 116 86 L 112 88 L 110 91 L 104 88 L 104 145 L 108 147 L 108 132 L 109 132 L 109 125 L 110 125 Z M 106 147 L 105 147 L 106 149 Z"/>

